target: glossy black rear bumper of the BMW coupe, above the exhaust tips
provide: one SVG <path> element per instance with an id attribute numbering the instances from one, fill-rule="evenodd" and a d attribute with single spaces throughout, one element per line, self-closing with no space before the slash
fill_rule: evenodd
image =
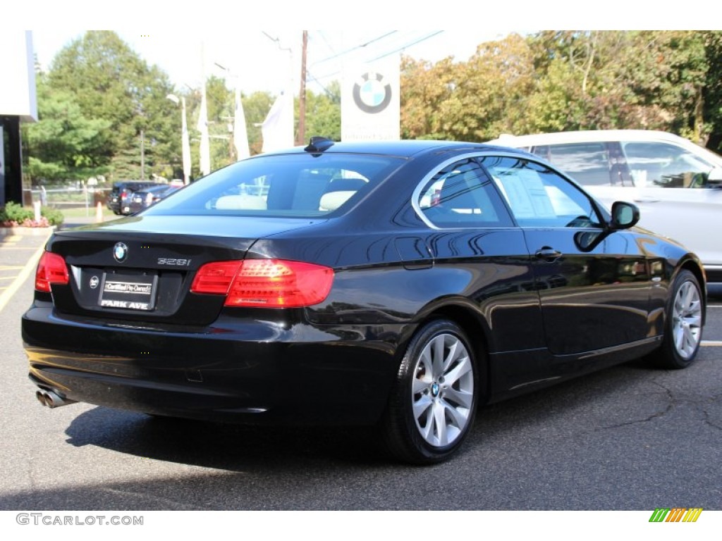
<path id="1" fill-rule="evenodd" d="M 67 400 L 252 424 L 370 424 L 386 407 L 401 325 L 219 319 L 143 327 L 30 308 L 30 379 Z"/>

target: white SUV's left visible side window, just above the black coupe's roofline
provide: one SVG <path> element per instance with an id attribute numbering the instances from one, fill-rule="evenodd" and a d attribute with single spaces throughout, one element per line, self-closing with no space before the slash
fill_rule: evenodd
<path id="1" fill-rule="evenodd" d="M 629 175 L 617 167 L 620 153 L 615 149 L 604 142 L 569 143 L 535 146 L 534 154 L 584 186 L 631 185 Z"/>

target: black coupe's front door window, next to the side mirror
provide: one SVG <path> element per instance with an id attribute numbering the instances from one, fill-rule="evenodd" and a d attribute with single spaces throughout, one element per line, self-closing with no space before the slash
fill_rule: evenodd
<path id="1" fill-rule="evenodd" d="M 485 157 L 482 164 L 526 227 L 599 227 L 588 196 L 548 167 L 526 159 Z"/>

